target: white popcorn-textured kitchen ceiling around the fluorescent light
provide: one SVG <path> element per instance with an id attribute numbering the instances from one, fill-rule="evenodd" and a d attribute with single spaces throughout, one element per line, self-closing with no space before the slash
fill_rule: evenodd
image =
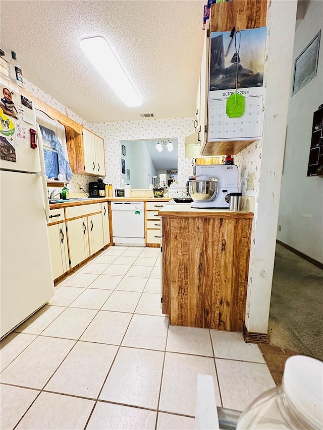
<path id="1" fill-rule="evenodd" d="M 1 1 L 1 48 L 23 75 L 90 122 L 193 116 L 205 0 Z M 127 108 L 88 63 L 83 37 L 110 42 L 142 97 Z"/>

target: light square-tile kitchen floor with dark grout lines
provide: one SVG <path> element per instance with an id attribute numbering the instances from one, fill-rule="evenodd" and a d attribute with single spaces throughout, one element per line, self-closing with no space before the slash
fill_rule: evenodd
<path id="1" fill-rule="evenodd" d="M 1 342 L 2 429 L 194 428 L 197 374 L 218 406 L 275 387 L 241 333 L 169 326 L 160 253 L 111 247 Z"/>

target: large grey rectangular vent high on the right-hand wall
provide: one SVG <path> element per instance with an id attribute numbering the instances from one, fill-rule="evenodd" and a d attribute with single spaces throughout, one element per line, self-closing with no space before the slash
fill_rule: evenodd
<path id="1" fill-rule="evenodd" d="M 320 36 L 321 31 L 319 30 L 314 39 L 295 60 L 292 95 L 296 94 L 316 76 Z"/>

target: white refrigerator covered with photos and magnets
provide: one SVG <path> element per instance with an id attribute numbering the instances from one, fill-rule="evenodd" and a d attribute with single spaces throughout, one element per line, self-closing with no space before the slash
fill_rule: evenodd
<path id="1" fill-rule="evenodd" d="M 12 92 L 17 113 L 10 117 L 0 110 L 0 338 L 54 294 L 41 134 L 30 100 L 23 100 L 18 87 L 2 79 L 1 95 L 4 86 Z M 37 147 L 30 129 L 37 132 Z"/>

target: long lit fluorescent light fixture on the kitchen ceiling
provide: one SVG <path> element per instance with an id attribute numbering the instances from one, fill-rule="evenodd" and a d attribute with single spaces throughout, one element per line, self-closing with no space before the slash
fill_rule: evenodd
<path id="1" fill-rule="evenodd" d="M 101 37 L 82 39 L 81 48 L 118 97 L 128 107 L 140 106 L 142 100 L 107 41 Z"/>

